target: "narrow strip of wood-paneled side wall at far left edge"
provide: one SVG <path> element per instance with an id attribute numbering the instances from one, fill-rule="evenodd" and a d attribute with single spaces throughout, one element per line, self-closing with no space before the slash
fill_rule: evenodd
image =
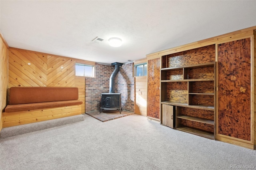
<path id="1" fill-rule="evenodd" d="M 6 107 L 6 96 L 8 88 L 8 46 L 0 38 L 0 130 L 2 129 L 2 113 Z"/>

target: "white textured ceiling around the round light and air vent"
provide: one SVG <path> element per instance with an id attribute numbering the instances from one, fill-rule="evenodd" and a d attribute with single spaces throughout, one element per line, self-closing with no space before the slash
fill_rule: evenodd
<path id="1" fill-rule="evenodd" d="M 106 64 L 251 26 L 256 0 L 0 1 L 0 30 L 10 47 Z M 97 36 L 104 41 L 92 42 Z M 111 37 L 122 46 L 110 47 Z"/>

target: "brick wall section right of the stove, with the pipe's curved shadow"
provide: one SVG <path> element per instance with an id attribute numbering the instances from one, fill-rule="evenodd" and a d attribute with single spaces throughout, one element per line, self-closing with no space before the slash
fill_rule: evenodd
<path id="1" fill-rule="evenodd" d="M 122 93 L 122 109 L 130 112 L 134 107 L 133 63 L 122 65 L 115 78 L 115 93 Z"/>

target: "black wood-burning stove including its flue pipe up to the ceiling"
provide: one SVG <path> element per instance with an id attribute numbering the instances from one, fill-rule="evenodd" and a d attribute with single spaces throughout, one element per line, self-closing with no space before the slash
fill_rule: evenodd
<path id="1" fill-rule="evenodd" d="M 101 107 L 100 107 L 100 113 L 103 110 L 118 110 L 122 111 L 121 107 L 121 93 L 115 93 L 115 77 L 116 74 L 119 71 L 119 67 L 122 66 L 122 63 L 112 63 L 111 65 L 115 66 L 115 69 L 113 73 L 110 76 L 109 79 L 109 93 L 102 93 L 101 94 Z"/>

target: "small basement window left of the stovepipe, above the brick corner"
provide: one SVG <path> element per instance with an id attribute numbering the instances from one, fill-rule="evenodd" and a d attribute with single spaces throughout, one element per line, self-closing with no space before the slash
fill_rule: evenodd
<path id="1" fill-rule="evenodd" d="M 76 63 L 76 76 L 94 77 L 94 66 Z"/>

